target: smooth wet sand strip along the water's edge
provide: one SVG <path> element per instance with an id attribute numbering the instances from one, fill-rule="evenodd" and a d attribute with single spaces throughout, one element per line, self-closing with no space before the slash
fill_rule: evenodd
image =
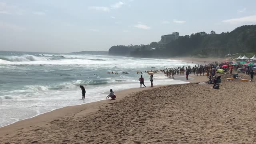
<path id="1" fill-rule="evenodd" d="M 183 78 L 184 77 L 184 78 Z M 195 83 L 195 82 L 204 82 L 207 80 L 206 76 L 190 76 L 192 79 L 188 80 L 187 82 L 189 83 Z M 184 80 L 182 80 L 184 79 Z M 186 81 L 185 80 L 185 75 L 180 76 L 174 80 L 181 80 L 181 81 Z M 177 84 L 171 84 L 171 85 L 177 85 Z M 33 116 L 31 118 L 26 118 L 24 120 L 19 120 L 17 122 L 14 122 L 12 124 L 8 124 L 6 126 L 0 127 L 0 137 L 3 137 L 4 135 L 9 133 L 12 133 L 14 131 L 17 131 L 20 128 L 30 128 L 32 125 L 41 125 L 46 122 L 50 122 L 52 120 L 56 120 L 58 118 L 62 117 L 67 117 L 70 115 L 77 114 L 81 111 L 86 110 L 86 112 L 83 112 L 83 114 L 92 114 L 94 112 L 97 112 L 101 106 L 104 104 L 108 104 L 109 102 L 117 102 L 122 99 L 124 99 L 127 96 L 131 96 L 134 93 L 141 92 L 144 90 L 150 90 L 154 88 L 160 88 L 164 86 L 169 86 L 169 85 L 157 85 L 154 86 L 153 88 L 151 87 L 146 87 L 146 88 L 130 88 L 130 89 L 124 89 L 116 92 L 117 98 L 116 100 L 99 100 L 96 102 L 90 102 L 86 104 L 80 104 L 80 105 L 73 105 L 73 106 L 64 106 L 62 108 L 54 109 L 49 112 L 45 112 L 42 114 L 38 114 L 36 116 Z"/>

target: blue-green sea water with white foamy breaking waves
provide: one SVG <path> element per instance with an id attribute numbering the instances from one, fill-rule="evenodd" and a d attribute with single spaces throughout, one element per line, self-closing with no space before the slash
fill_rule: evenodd
<path id="1" fill-rule="evenodd" d="M 136 71 L 187 65 L 192 64 L 168 59 L 0 51 L 0 127 L 64 106 L 104 100 L 110 89 L 139 88 L 140 75 L 150 86 L 150 76 Z M 118 74 L 107 73 L 112 71 Z M 187 82 L 154 74 L 154 85 L 183 83 Z M 85 100 L 80 100 L 79 85 L 86 88 Z"/>

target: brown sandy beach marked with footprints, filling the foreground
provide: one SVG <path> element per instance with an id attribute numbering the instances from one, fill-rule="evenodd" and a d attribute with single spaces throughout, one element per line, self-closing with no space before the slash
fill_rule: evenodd
<path id="1" fill-rule="evenodd" d="M 118 92 L 117 100 L 54 110 L 0 128 L 0 143 L 255 144 L 256 82 L 226 77 L 220 90 L 206 84 L 136 88 Z"/>

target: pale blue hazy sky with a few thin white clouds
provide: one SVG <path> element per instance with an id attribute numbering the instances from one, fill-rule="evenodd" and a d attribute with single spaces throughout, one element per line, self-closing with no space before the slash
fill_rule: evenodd
<path id="1" fill-rule="evenodd" d="M 0 0 L 0 50 L 107 51 L 256 24 L 256 0 Z"/>

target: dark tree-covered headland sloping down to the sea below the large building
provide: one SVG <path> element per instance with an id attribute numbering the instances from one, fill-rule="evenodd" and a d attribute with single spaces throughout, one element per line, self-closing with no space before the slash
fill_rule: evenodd
<path id="1" fill-rule="evenodd" d="M 256 52 L 256 25 L 245 25 L 216 34 L 197 32 L 196 34 L 180 36 L 166 45 L 152 42 L 147 45 L 119 45 L 109 49 L 110 55 L 125 55 L 142 58 L 196 56 L 220 57 L 226 54 Z"/>

